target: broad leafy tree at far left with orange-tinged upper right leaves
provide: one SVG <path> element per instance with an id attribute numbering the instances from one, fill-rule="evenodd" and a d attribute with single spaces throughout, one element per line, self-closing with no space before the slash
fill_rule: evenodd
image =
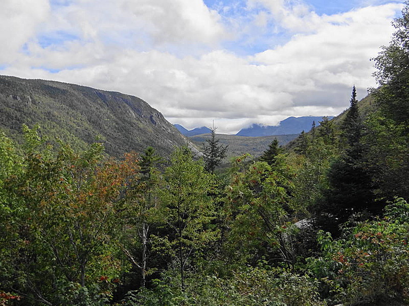
<path id="1" fill-rule="evenodd" d="M 82 154 L 61 144 L 53 154 L 35 130 L 25 135 L 21 171 L 2 186 L 3 205 L 18 212 L 6 224 L 13 233 L 2 252 L 8 247 L 12 258 L 2 285 L 30 304 L 106 302 L 124 269 L 118 238 L 137 156 L 105 160 L 99 143 Z"/>

